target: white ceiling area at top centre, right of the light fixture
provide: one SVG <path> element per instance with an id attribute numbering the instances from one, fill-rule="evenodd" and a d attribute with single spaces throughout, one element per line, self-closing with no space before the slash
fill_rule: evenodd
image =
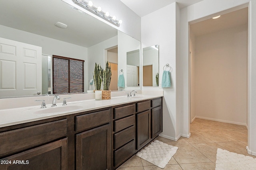
<path id="1" fill-rule="evenodd" d="M 160 8 L 170 5 L 174 2 L 178 3 L 180 8 L 196 4 L 203 0 L 120 0 L 138 16 L 143 17 Z"/>

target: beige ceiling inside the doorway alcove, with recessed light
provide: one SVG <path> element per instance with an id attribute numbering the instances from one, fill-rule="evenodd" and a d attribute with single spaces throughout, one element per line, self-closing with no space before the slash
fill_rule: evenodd
<path id="1" fill-rule="evenodd" d="M 208 19 L 190 25 L 190 32 L 195 36 L 204 35 L 207 33 L 236 27 L 238 25 L 248 24 L 248 8 L 236 10 L 217 19 Z"/>

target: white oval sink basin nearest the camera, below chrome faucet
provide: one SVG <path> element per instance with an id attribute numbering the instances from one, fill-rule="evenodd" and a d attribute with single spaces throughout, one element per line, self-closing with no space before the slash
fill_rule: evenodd
<path id="1" fill-rule="evenodd" d="M 38 111 L 35 111 L 35 114 L 47 114 L 47 113 L 58 113 L 63 111 L 72 111 L 77 109 L 82 109 L 83 106 L 77 106 L 77 105 L 66 105 L 66 106 L 56 106 L 56 107 L 47 107 L 40 109 Z"/>

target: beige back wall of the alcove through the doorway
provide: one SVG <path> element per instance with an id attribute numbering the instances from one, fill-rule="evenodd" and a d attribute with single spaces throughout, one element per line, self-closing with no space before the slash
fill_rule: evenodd
<path id="1" fill-rule="evenodd" d="M 247 43 L 248 25 L 196 37 L 191 115 L 246 125 Z"/>

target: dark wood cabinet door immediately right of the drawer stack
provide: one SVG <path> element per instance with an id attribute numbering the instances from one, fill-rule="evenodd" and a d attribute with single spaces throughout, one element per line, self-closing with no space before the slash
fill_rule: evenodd
<path id="1" fill-rule="evenodd" d="M 144 147 L 151 139 L 150 110 L 137 114 L 137 150 Z"/>

